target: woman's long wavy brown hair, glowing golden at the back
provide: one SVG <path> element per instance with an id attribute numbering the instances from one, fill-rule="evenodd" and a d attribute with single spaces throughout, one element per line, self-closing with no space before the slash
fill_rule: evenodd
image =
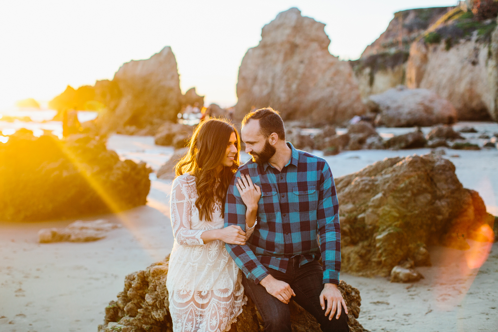
<path id="1" fill-rule="evenodd" d="M 224 166 L 218 174 L 220 165 L 227 151 L 230 136 L 237 137 L 237 154 L 232 167 Z M 222 216 L 225 212 L 225 196 L 232 177 L 239 168 L 241 143 L 235 127 L 225 119 L 209 119 L 201 122 L 190 139 L 188 152 L 176 164 L 176 176 L 189 172 L 196 177 L 195 183 L 199 198 L 195 206 L 199 209 L 199 218 L 211 221 L 211 212 L 216 201 L 221 202 Z M 220 179 L 219 185 L 216 184 Z"/>

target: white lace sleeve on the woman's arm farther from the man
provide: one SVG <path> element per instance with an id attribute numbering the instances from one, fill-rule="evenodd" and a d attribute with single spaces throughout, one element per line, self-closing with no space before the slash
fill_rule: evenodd
<path id="1" fill-rule="evenodd" d="M 205 230 L 190 228 L 193 195 L 191 190 L 189 182 L 182 176 L 173 181 L 170 201 L 171 226 L 178 244 L 184 246 L 204 245 L 201 234 Z"/>

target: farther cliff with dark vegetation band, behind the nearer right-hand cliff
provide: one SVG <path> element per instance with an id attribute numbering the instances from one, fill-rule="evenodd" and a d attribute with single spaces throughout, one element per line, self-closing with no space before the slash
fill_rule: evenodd
<path id="1" fill-rule="evenodd" d="M 410 44 L 451 9 L 417 8 L 394 13 L 387 29 L 367 46 L 360 59 L 350 61 L 365 101 L 370 95 L 406 84 Z"/>

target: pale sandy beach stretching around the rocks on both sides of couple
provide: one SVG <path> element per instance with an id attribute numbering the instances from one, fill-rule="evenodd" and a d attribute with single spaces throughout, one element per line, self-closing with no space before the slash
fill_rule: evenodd
<path id="1" fill-rule="evenodd" d="M 459 123 L 458 126 L 463 126 Z M 498 132 L 496 123 L 473 124 Z M 385 128 L 388 135 L 413 129 Z M 426 131 L 427 129 L 423 129 Z M 477 139 L 476 139 L 477 140 Z M 115 135 L 108 142 L 122 158 L 143 160 L 158 169 L 173 153 L 152 137 Z M 479 191 L 488 211 L 498 215 L 498 151 L 445 150 L 465 187 Z M 429 153 L 430 149 L 349 151 L 326 157 L 334 176 L 358 171 L 386 157 Z M 320 155 L 321 152 L 316 152 Z M 459 157 L 452 157 L 458 155 Z M 247 160 L 248 155 L 243 155 Z M 104 308 L 123 290 L 124 276 L 162 259 L 173 245 L 169 220 L 171 181 L 151 175 L 147 205 L 105 218 L 124 227 L 89 243 L 39 244 L 41 228 L 74 220 L 0 224 L 0 331 L 95 332 Z M 469 244 L 486 254 L 479 243 Z M 414 284 L 385 278 L 341 279 L 361 291 L 359 322 L 371 331 L 467 332 L 498 330 L 498 243 L 480 268 L 469 268 L 469 252 L 430 248 L 432 267 L 417 268 L 425 279 Z"/>

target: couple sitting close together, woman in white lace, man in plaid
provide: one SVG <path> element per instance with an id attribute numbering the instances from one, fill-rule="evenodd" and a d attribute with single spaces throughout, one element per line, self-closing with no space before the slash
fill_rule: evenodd
<path id="1" fill-rule="evenodd" d="M 322 331 L 349 331 L 337 288 L 339 206 L 329 165 L 285 142 L 271 108 L 245 117 L 242 139 L 252 160 L 239 167 L 237 130 L 204 121 L 176 166 L 166 281 L 173 331 L 230 330 L 244 290 L 264 331 L 291 331 L 291 300 Z"/>

